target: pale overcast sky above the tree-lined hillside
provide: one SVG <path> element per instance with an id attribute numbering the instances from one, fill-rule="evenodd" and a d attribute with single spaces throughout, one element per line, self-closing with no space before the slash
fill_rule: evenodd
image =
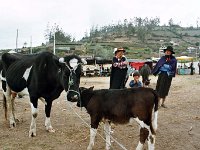
<path id="1" fill-rule="evenodd" d="M 45 43 L 45 30 L 55 23 L 77 40 L 92 26 L 134 17 L 169 19 L 181 26 L 200 25 L 200 0 L 0 0 L 0 49 Z"/>

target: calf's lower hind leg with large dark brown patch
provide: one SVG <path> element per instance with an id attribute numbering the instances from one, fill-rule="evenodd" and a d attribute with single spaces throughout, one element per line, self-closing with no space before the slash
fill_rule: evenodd
<path id="1" fill-rule="evenodd" d="M 140 141 L 139 141 L 139 143 L 137 145 L 136 150 L 142 150 L 143 149 L 144 143 L 145 143 L 148 135 L 149 135 L 148 129 L 140 128 Z"/>

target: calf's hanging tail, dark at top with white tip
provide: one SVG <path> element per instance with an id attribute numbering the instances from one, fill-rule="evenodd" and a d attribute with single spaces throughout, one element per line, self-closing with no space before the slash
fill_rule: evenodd
<path id="1" fill-rule="evenodd" d="M 151 131 L 155 134 L 155 131 L 158 128 L 158 94 L 155 90 L 153 90 L 154 94 L 154 107 L 152 109 L 152 121 L 151 121 Z"/>

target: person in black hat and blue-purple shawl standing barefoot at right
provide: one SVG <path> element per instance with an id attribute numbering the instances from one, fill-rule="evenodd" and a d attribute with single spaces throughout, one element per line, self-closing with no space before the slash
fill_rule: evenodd
<path id="1" fill-rule="evenodd" d="M 164 49 L 164 53 L 165 56 L 162 56 L 161 59 L 157 62 L 152 70 L 152 74 L 154 76 L 158 75 L 156 91 L 158 92 L 158 96 L 160 98 L 159 103 L 162 100 L 161 106 L 166 108 L 164 102 L 166 96 L 168 95 L 172 78 L 175 77 L 176 74 L 177 60 L 172 55 L 175 54 L 172 46 L 167 46 L 167 48 Z"/>

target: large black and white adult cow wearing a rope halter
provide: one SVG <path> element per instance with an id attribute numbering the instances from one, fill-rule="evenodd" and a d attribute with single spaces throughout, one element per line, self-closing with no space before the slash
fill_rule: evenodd
<path id="1" fill-rule="evenodd" d="M 29 94 L 32 111 L 29 136 L 36 136 L 38 99 L 45 103 L 46 130 L 54 132 L 50 122 L 52 102 L 63 90 L 67 92 L 69 101 L 77 101 L 80 98 L 79 84 L 83 60 L 76 55 L 58 58 L 50 52 L 20 59 L 15 54 L 5 53 L 2 55 L 2 63 L 6 80 L 4 95 L 8 103 L 10 126 L 16 126 L 12 105 L 15 96 L 11 93 L 25 91 Z"/>

